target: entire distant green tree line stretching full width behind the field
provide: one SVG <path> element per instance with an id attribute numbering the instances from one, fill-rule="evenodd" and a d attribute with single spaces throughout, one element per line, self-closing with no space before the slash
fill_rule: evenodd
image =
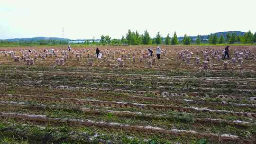
<path id="1" fill-rule="evenodd" d="M 139 34 L 138 31 L 128 30 L 128 33 L 125 36 L 122 36 L 121 39 L 111 39 L 109 35 L 101 36 L 100 41 L 85 40 L 83 45 L 201 45 L 210 44 L 254 44 L 256 43 L 256 33 L 253 34 L 251 31 L 245 33 L 245 35 L 237 35 L 234 33 L 227 33 L 226 36 L 220 35 L 219 37 L 216 34 L 210 34 L 207 39 L 203 39 L 200 35 L 196 39 L 192 39 L 190 36 L 184 35 L 182 40 L 178 40 L 176 32 L 171 37 L 170 34 L 167 34 L 166 37 L 160 35 L 160 32 L 157 32 L 155 37 L 150 37 L 147 30 L 143 34 Z M 46 39 L 46 40 L 19 40 L 15 42 L 9 42 L 0 40 L 0 45 L 66 45 L 68 40 L 55 40 L 55 39 Z M 75 44 L 72 44 L 75 45 Z"/>

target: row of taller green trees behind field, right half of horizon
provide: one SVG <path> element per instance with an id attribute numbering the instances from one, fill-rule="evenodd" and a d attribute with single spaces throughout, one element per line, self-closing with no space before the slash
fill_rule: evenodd
<path id="1" fill-rule="evenodd" d="M 180 42 L 183 45 L 190 45 L 192 42 L 194 42 L 197 45 L 200 45 L 203 40 L 204 39 L 202 39 L 200 35 L 197 36 L 195 41 L 193 41 L 190 36 L 184 35 L 183 40 L 181 40 Z M 204 41 L 208 42 L 211 45 L 224 43 L 253 44 L 256 43 L 256 33 L 253 34 L 251 31 L 248 31 L 244 36 L 237 36 L 236 33 L 227 33 L 226 38 L 223 35 L 220 35 L 218 37 L 216 34 L 210 34 L 208 36 L 208 39 Z M 174 33 L 173 37 L 170 37 L 170 34 L 168 34 L 165 38 L 162 37 L 158 32 L 155 38 L 151 38 L 147 30 L 145 30 L 144 34 L 142 35 L 140 35 L 137 31 L 132 32 L 131 30 L 128 30 L 128 33 L 126 34 L 126 39 L 124 39 L 124 36 L 122 37 L 122 43 L 128 45 L 178 45 L 179 41 L 176 32 Z"/>

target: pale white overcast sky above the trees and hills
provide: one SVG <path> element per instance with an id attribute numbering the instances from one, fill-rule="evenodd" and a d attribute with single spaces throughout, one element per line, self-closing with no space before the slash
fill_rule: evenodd
<path id="1" fill-rule="evenodd" d="M 0 39 L 256 32 L 256 0 L 0 0 Z"/>

